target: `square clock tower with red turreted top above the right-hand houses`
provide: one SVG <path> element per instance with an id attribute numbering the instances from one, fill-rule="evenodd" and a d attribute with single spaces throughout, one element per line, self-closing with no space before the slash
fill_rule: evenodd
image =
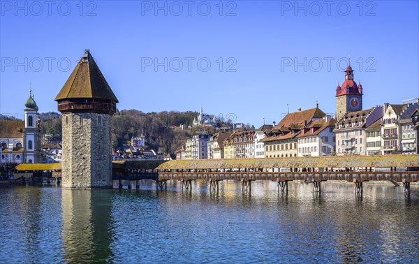
<path id="1" fill-rule="evenodd" d="M 353 80 L 351 64 L 346 68 L 345 81 L 336 88 L 336 119 L 339 120 L 347 112 L 362 110 L 362 85 Z"/>

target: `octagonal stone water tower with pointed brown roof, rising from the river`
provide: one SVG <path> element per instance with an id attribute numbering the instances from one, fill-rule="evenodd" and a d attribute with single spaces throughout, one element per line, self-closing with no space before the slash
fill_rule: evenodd
<path id="1" fill-rule="evenodd" d="M 54 99 L 62 113 L 66 189 L 112 188 L 112 115 L 118 99 L 89 50 Z"/>

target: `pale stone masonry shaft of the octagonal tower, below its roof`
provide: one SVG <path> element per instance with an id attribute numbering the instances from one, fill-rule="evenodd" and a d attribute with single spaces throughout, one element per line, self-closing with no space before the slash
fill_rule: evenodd
<path id="1" fill-rule="evenodd" d="M 112 188 L 112 117 L 64 113 L 61 186 L 67 189 Z"/>

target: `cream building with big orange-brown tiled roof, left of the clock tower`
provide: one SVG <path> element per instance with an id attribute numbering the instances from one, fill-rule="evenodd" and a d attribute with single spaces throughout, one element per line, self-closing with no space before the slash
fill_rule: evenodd
<path id="1" fill-rule="evenodd" d="M 320 108 L 311 108 L 297 112 L 291 112 L 284 117 L 262 140 L 265 145 L 266 158 L 282 158 L 297 156 L 297 135 L 301 130 L 309 126 L 311 122 L 325 117 Z"/>

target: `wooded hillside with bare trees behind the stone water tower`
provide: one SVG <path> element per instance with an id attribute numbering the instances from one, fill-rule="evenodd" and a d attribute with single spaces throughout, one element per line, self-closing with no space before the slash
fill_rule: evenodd
<path id="1" fill-rule="evenodd" d="M 146 146 L 159 152 L 175 152 L 192 135 L 203 133 L 202 126 L 191 126 L 198 112 L 141 112 L 138 110 L 117 110 L 112 117 L 112 148 L 124 148 L 131 144 L 131 138 L 145 135 Z M 61 142 L 61 115 L 57 112 L 41 114 L 41 132 L 43 143 Z M 182 127 L 182 125 L 184 125 Z M 230 127 L 228 122 L 220 126 Z M 206 126 L 205 133 L 216 133 L 214 126 Z"/>

